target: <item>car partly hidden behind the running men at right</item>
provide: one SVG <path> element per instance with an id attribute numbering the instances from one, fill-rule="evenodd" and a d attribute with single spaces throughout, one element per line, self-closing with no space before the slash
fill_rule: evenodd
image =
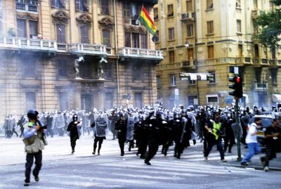
<path id="1" fill-rule="evenodd" d="M 250 122 L 248 124 L 251 125 L 254 122 L 254 119 L 256 117 L 261 117 L 261 129 L 259 129 L 258 133 L 257 133 L 257 138 L 258 138 L 258 142 L 262 145 L 265 146 L 265 131 L 266 128 L 268 128 L 268 126 L 270 126 L 273 122 L 273 119 L 275 118 L 273 115 L 254 115 L 254 117 L 252 117 L 250 119 Z"/>

